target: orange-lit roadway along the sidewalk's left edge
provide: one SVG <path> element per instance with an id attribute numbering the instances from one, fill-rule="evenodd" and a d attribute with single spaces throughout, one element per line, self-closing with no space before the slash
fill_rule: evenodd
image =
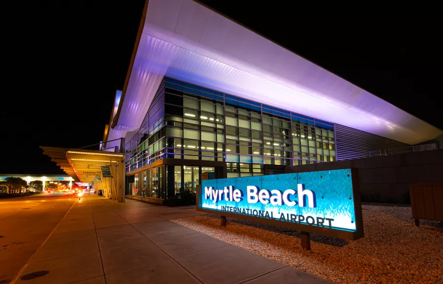
<path id="1" fill-rule="evenodd" d="M 68 194 L 0 199 L 0 284 L 18 274 L 76 200 Z"/>

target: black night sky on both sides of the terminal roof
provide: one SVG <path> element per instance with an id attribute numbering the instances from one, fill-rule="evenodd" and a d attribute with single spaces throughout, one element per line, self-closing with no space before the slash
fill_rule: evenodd
<path id="1" fill-rule="evenodd" d="M 286 1 L 202 2 L 443 129 L 438 17 L 340 15 L 276 4 Z M 15 91 L 0 100 L 0 174 L 63 174 L 39 146 L 102 140 L 144 1 L 31 5 L 11 44 L 19 54 L 9 70 Z"/>

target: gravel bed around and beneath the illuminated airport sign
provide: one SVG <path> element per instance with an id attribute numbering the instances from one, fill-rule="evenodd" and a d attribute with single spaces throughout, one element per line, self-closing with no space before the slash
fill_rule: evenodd
<path id="1" fill-rule="evenodd" d="M 443 284 L 443 226 L 422 220 L 415 227 L 410 207 L 364 205 L 364 238 L 311 234 L 310 251 L 299 231 L 232 218 L 221 227 L 214 215 L 171 221 L 333 283 Z"/>

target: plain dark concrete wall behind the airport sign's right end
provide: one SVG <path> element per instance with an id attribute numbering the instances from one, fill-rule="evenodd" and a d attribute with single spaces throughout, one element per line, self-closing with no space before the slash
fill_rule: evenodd
<path id="1" fill-rule="evenodd" d="M 286 173 L 358 168 L 362 202 L 410 204 L 410 183 L 443 182 L 443 149 L 286 167 Z"/>

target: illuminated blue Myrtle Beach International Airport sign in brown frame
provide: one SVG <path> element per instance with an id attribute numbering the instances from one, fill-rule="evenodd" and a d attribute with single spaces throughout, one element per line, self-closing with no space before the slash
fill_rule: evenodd
<path id="1" fill-rule="evenodd" d="M 363 227 L 355 176 L 340 169 L 203 180 L 198 210 L 356 239 Z"/>

